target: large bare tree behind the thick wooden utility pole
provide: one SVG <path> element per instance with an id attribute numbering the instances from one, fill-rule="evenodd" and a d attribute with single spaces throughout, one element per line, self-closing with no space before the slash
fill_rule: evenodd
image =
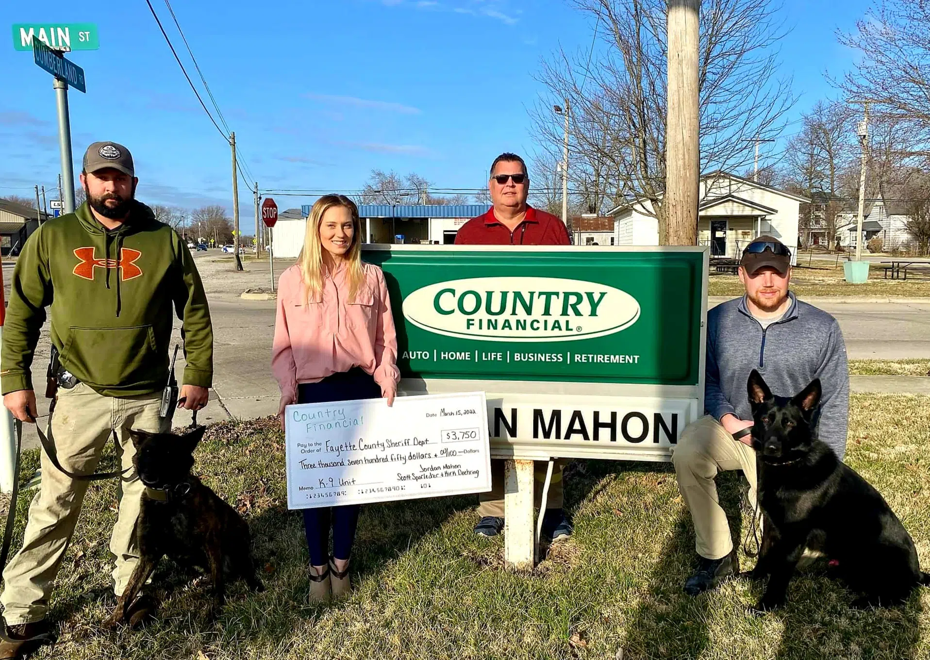
<path id="1" fill-rule="evenodd" d="M 606 26 L 597 57 L 562 51 L 543 63 L 547 93 L 531 111 L 537 139 L 558 152 L 569 100 L 570 172 L 581 168 L 590 205 L 640 202 L 664 235 L 666 0 L 573 0 Z M 777 138 L 794 102 L 777 76 L 778 7 L 768 0 L 705 0 L 701 7 L 701 169 L 739 169 L 752 161 L 748 140 Z M 572 175 L 576 185 L 578 179 Z M 584 188 L 586 186 L 587 188 Z"/>

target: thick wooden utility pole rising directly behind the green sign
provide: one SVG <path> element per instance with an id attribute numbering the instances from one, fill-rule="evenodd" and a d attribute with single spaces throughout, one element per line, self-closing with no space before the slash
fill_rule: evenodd
<path id="1" fill-rule="evenodd" d="M 693 245 L 697 234 L 699 9 L 700 0 L 669 0 L 665 222 L 658 225 L 662 245 Z"/>

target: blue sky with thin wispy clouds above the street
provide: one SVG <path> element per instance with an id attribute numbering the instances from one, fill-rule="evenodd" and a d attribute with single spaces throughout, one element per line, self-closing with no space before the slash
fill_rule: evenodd
<path id="1" fill-rule="evenodd" d="M 152 2 L 199 85 L 164 1 Z M 440 187 L 485 185 L 499 152 L 533 151 L 526 109 L 540 92 L 539 60 L 560 45 L 591 45 L 591 24 L 565 0 L 176 0 L 172 7 L 259 188 L 356 190 L 372 168 L 414 171 Z M 801 95 L 791 118 L 834 94 L 823 73 L 842 73 L 854 58 L 835 31 L 851 28 L 868 7 L 786 0 L 783 70 Z M 68 56 L 87 81 L 87 94 L 70 92 L 75 172 L 89 142 L 113 139 L 133 152 L 140 200 L 232 206 L 229 147 L 144 0 L 5 3 L 0 15 L 7 26 L 99 26 L 99 50 Z M 29 195 L 58 176 L 54 92 L 51 76 L 31 53 L 13 50 L 5 31 L 0 195 Z M 252 196 L 241 181 L 240 199 L 250 218 Z M 277 201 L 286 208 L 310 198 Z"/>

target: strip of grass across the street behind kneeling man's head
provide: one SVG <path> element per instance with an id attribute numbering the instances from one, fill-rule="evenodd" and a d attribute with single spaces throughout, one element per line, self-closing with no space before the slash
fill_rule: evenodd
<path id="1" fill-rule="evenodd" d="M 867 296 L 867 297 L 930 297 L 930 280 L 885 280 L 883 269 L 872 265 L 869 281 L 849 284 L 844 280 L 843 265 L 822 268 L 796 268 L 791 273 L 791 290 L 798 296 Z M 708 283 L 710 296 L 742 296 L 745 289 L 737 275 L 711 272 Z"/>

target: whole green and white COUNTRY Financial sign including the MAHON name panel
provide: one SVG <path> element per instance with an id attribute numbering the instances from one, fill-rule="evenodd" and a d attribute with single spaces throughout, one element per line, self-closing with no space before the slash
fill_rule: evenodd
<path id="1" fill-rule="evenodd" d="M 391 294 L 401 389 L 484 389 L 492 455 L 535 459 L 669 459 L 703 414 L 707 258 L 365 247 Z"/>

